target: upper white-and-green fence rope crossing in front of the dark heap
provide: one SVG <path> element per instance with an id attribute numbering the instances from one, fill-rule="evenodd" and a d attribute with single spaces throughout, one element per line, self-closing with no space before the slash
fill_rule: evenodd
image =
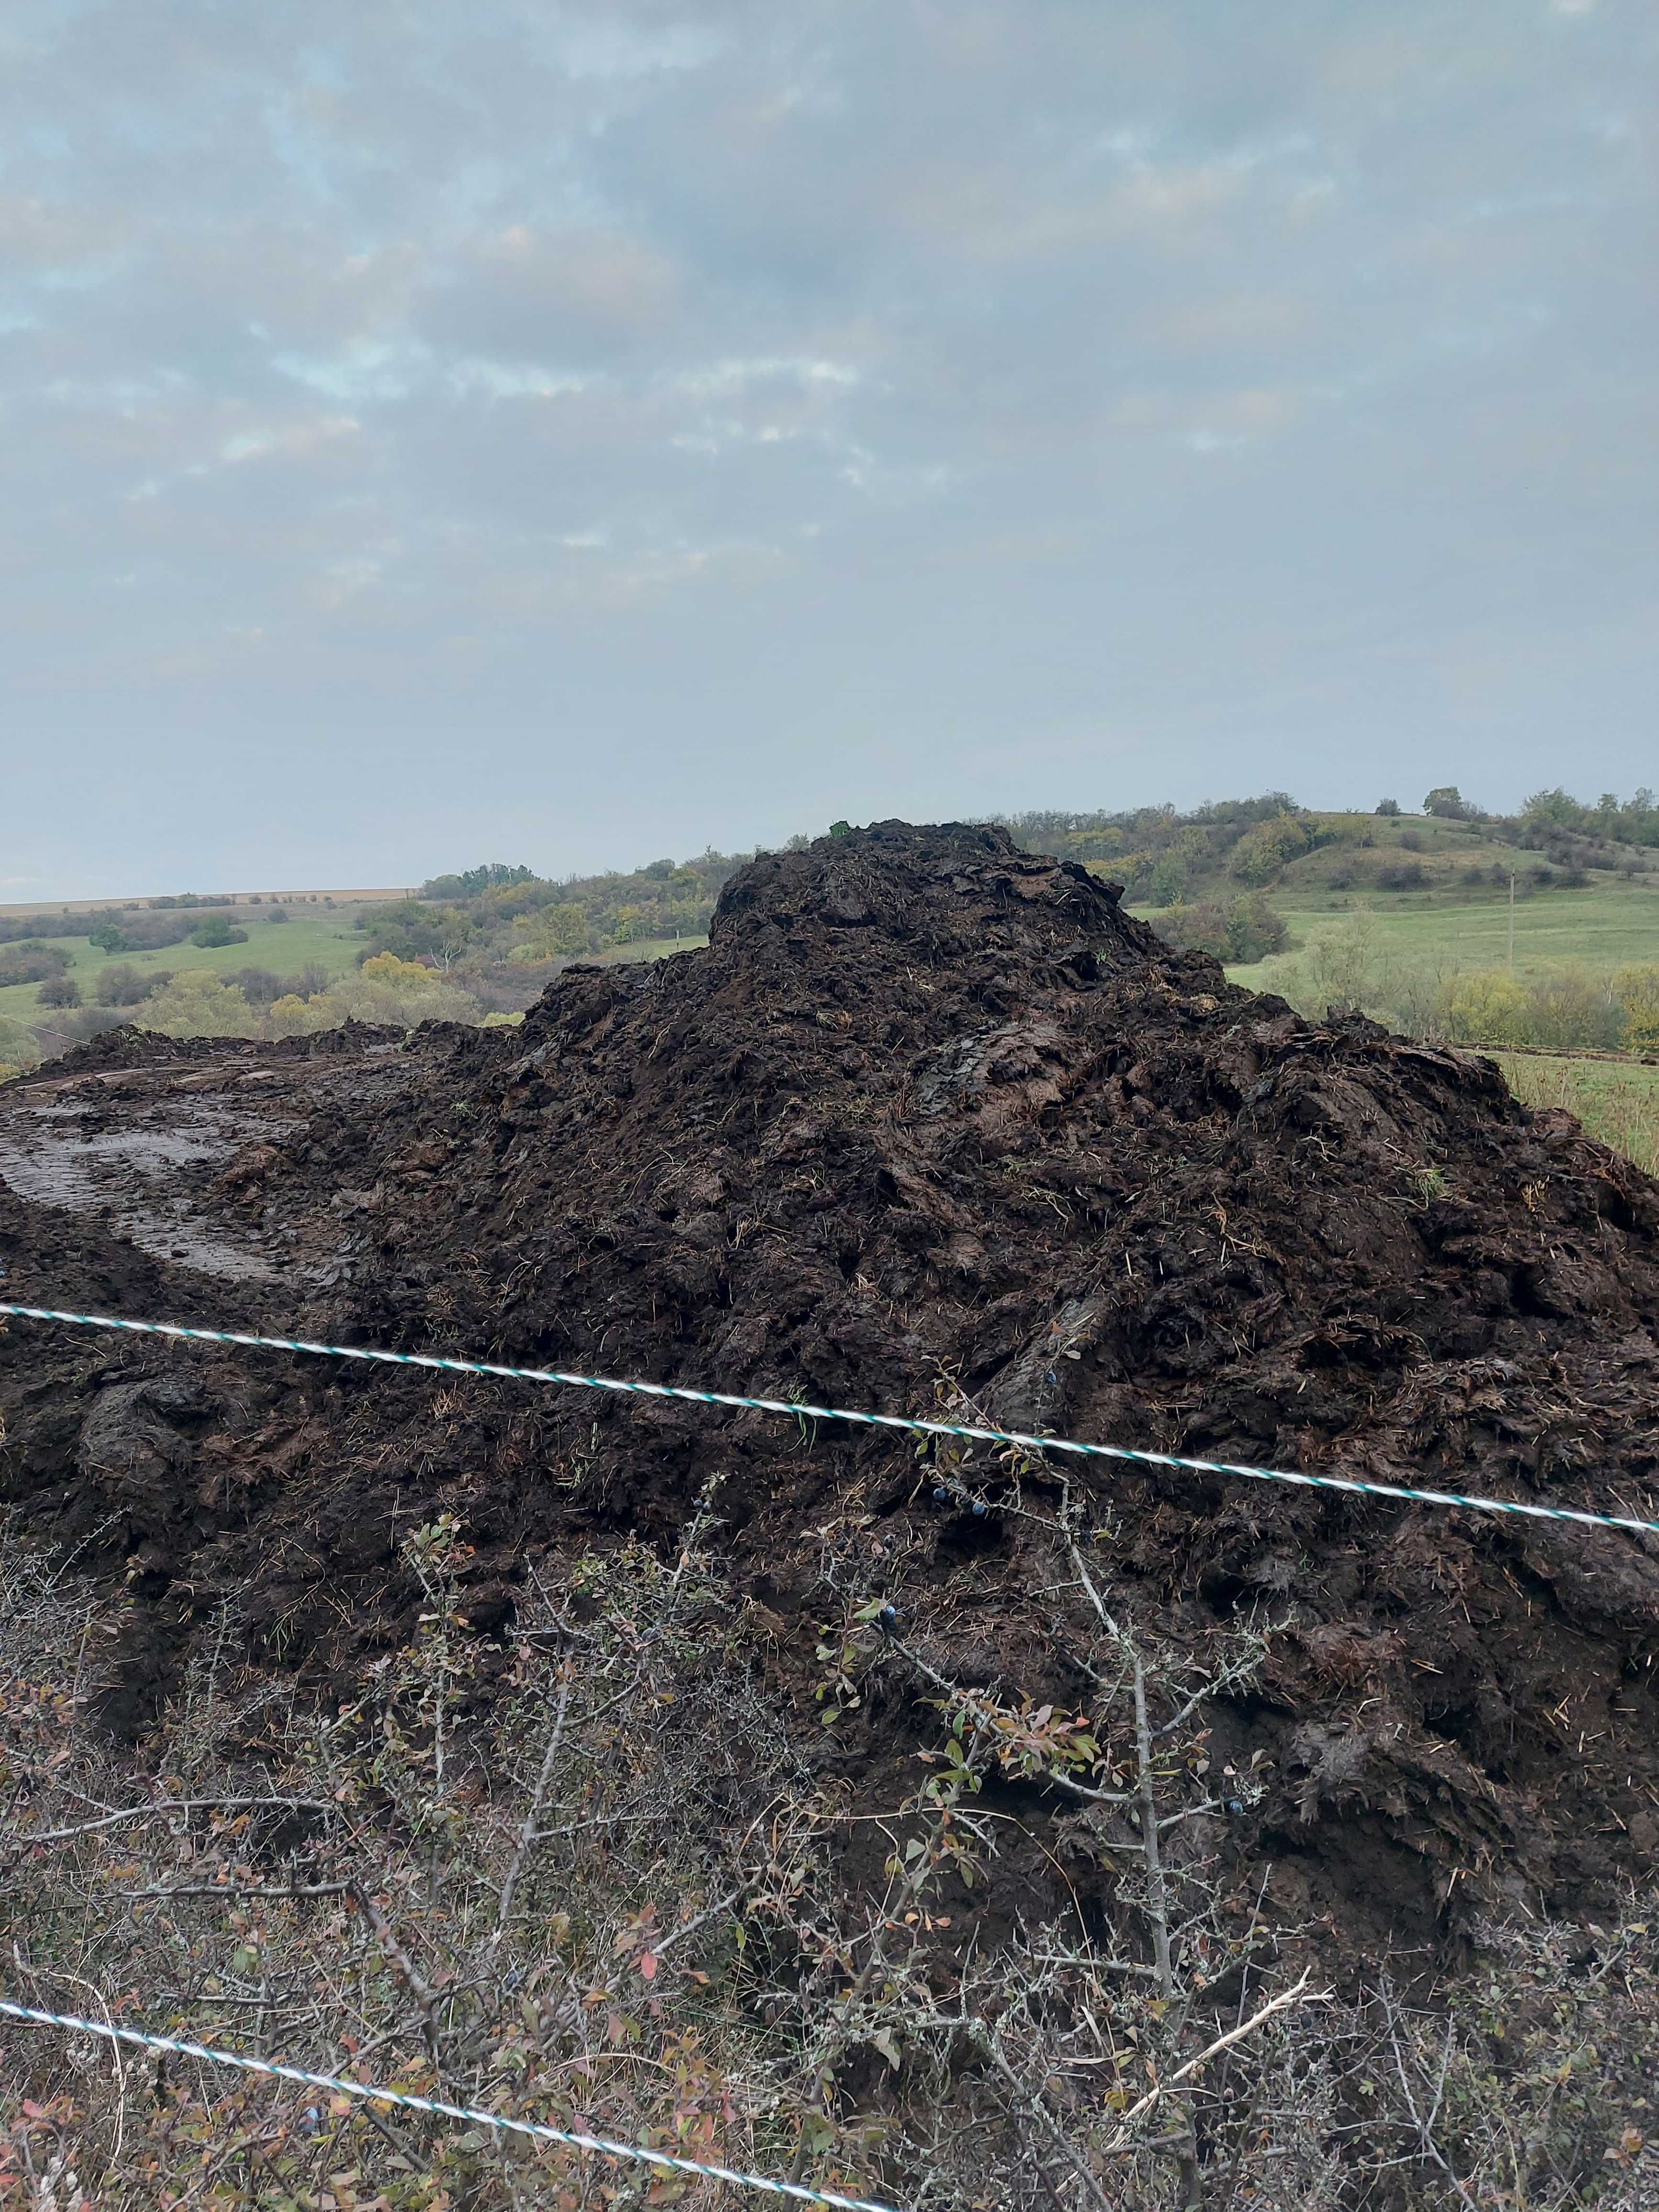
<path id="1" fill-rule="evenodd" d="M 1093 1444 L 1071 1436 L 1033 1436 L 1022 1429 L 971 1427 L 953 1420 L 918 1420 L 909 1413 L 867 1413 L 845 1405 L 807 1405 L 794 1398 L 743 1398 L 734 1391 L 690 1389 L 681 1383 L 639 1383 L 619 1376 L 564 1374 L 557 1367 L 500 1367 L 493 1360 L 453 1360 L 434 1352 L 385 1352 L 367 1345 L 316 1345 L 299 1336 L 248 1336 L 239 1329 L 192 1329 L 177 1321 L 126 1321 L 113 1314 L 71 1314 L 51 1305 L 4 1305 L 18 1321 L 60 1321 L 80 1329 L 126 1329 L 137 1336 L 170 1336 L 204 1345 L 243 1345 L 257 1352 L 301 1352 L 332 1360 L 372 1360 L 380 1367 L 429 1367 L 440 1374 L 495 1376 L 507 1383 L 555 1383 L 566 1389 L 604 1389 L 633 1398 L 675 1398 L 686 1405 L 721 1405 L 741 1413 L 783 1413 L 787 1420 L 847 1420 L 867 1429 L 902 1429 L 911 1436 L 951 1436 L 975 1444 L 1013 1444 L 1020 1451 L 1066 1451 L 1093 1460 L 1126 1460 L 1177 1473 L 1232 1475 L 1243 1482 L 1292 1482 L 1310 1491 L 1347 1491 L 1358 1498 L 1396 1498 L 1418 1506 L 1464 1506 L 1471 1513 L 1511 1513 L 1526 1520 L 1575 1522 L 1586 1528 L 1628 1528 L 1659 1535 L 1659 1522 L 1621 1513 L 1582 1513 L 1577 1506 L 1540 1506 L 1520 1498 L 1467 1498 L 1462 1491 L 1418 1491 L 1396 1482 L 1365 1482 L 1358 1475 L 1310 1475 L 1274 1467 L 1239 1467 L 1228 1460 L 1192 1460 L 1177 1451 L 1137 1451 L 1130 1444 Z"/>

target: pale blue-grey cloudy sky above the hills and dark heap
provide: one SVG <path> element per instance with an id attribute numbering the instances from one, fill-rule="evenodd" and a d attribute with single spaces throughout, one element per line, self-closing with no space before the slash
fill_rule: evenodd
<path id="1" fill-rule="evenodd" d="M 0 900 L 1659 783 L 1646 0 L 7 0 Z"/>

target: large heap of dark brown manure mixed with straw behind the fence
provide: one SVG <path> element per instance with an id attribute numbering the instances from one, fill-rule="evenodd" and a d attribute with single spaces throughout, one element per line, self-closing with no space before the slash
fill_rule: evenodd
<path id="1" fill-rule="evenodd" d="M 97 1040 L 53 1110 L 113 1113 L 148 1051 Z M 0 1197 L 7 1294 L 885 1411 L 947 1389 L 1020 1429 L 1659 1520 L 1659 1186 L 1491 1062 L 1303 1022 L 1000 830 L 757 858 L 708 951 L 573 967 L 518 1031 L 281 1079 L 192 1206 L 226 1239 L 261 1223 L 285 1274 L 232 1292 Z M 0 1137 L 24 1141 L 24 1104 Z M 24 1323 L 0 1411 L 24 1520 L 84 1544 L 77 1571 L 137 1562 L 122 1725 L 232 1588 L 257 1646 L 338 1681 L 409 1624 L 414 1520 L 467 1520 L 489 1632 L 540 1546 L 670 1540 L 712 1473 L 803 1683 L 816 1544 L 845 1522 L 905 1559 L 894 1601 L 958 1674 L 1044 1690 L 1011 1524 L 940 1506 L 880 1433 Z M 1287 1869 L 1283 1909 L 1431 1940 L 1650 1863 L 1659 1540 L 1071 1480 L 1110 1509 L 1097 1551 L 1139 1619 L 1287 1621 L 1230 1719 L 1274 1781 L 1228 1845 Z M 887 1708 L 816 1759 L 889 1792 L 918 1725 Z"/>

